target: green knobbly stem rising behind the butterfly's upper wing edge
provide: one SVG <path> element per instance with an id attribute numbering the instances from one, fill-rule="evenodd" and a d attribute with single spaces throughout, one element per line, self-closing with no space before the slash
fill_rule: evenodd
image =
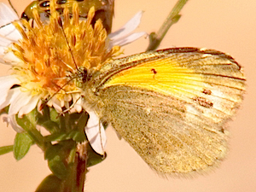
<path id="1" fill-rule="evenodd" d="M 181 9 L 183 9 L 183 6 L 185 3 L 187 3 L 189 0 L 178 0 L 175 6 L 173 7 L 170 14 L 167 16 L 166 20 L 164 21 L 163 25 L 160 26 L 160 29 L 157 33 L 151 32 L 149 36 L 149 45 L 147 50 L 154 50 L 157 49 L 160 45 L 163 38 L 166 36 L 166 32 L 168 32 L 169 28 L 177 23 L 177 21 L 180 19 L 181 15 L 179 15 L 179 12 Z"/>

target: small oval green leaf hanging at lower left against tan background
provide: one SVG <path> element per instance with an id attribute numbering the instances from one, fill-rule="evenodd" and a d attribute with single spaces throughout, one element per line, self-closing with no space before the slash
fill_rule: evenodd
<path id="1" fill-rule="evenodd" d="M 15 159 L 21 160 L 32 146 L 32 143 L 32 138 L 26 132 L 17 133 L 14 145 Z"/>

